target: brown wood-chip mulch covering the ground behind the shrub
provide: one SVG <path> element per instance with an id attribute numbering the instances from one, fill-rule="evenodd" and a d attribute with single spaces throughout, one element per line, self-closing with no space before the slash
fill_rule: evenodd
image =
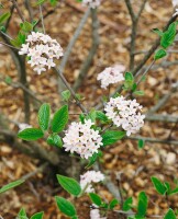
<path id="1" fill-rule="evenodd" d="M 134 0 L 133 2 L 136 9 L 140 1 Z M 46 32 L 62 44 L 64 50 L 84 14 L 82 10 L 80 10 L 81 7 L 78 3 L 75 3 L 75 5 L 73 1 L 62 3 L 56 12 L 45 20 Z M 26 14 L 26 11 L 24 11 L 24 14 Z M 101 42 L 93 64 L 79 91 L 86 97 L 84 103 L 88 108 L 99 103 L 100 94 L 108 94 L 103 90 L 100 90 L 98 82 L 96 83 L 97 73 L 114 64 L 123 64 L 126 68 L 129 65 L 127 47 L 131 34 L 131 20 L 124 2 L 105 0 L 103 5 L 100 7 L 98 14 L 100 19 L 99 33 Z M 173 7 L 169 0 L 148 1 L 138 25 L 137 50 L 147 50 L 152 46 L 157 36 L 151 30 L 154 27 L 164 27 L 171 14 Z M 10 26 L 12 36 L 15 34 L 19 23 L 20 20 L 18 16 L 14 16 Z M 88 54 L 91 44 L 90 35 L 89 20 L 66 66 L 65 76 L 70 83 L 74 83 L 77 78 L 81 62 Z M 142 54 L 137 55 L 136 60 L 140 60 L 142 57 Z M 176 59 L 177 56 L 174 54 L 170 54 L 167 58 L 168 61 L 175 61 Z M 157 103 L 159 97 L 166 94 L 170 85 L 177 81 L 177 66 L 171 66 L 167 69 L 156 68 L 156 70 L 149 72 L 146 81 L 141 84 L 141 89 L 145 91 L 145 95 L 137 97 L 137 101 L 144 106 L 145 112 Z M 10 76 L 14 82 L 18 80 L 13 61 L 4 46 L 0 47 L 0 73 L 3 77 Z M 60 100 L 57 93 L 57 77 L 54 72 L 36 76 L 29 68 L 27 80 L 30 89 L 37 93 L 38 99 L 49 102 L 54 111 L 59 107 Z M 178 115 L 177 105 L 178 94 L 173 94 L 167 104 L 158 113 Z M 0 111 L 10 119 L 22 123 L 22 91 L 1 82 Z M 36 110 L 33 105 L 31 111 L 31 124 L 35 125 Z M 79 112 L 74 105 L 71 105 L 71 111 Z M 166 139 L 169 136 L 171 127 L 173 125 L 167 123 L 146 122 L 141 134 L 144 137 Z M 18 130 L 14 124 L 11 124 L 11 128 Z M 176 138 L 177 134 L 175 128 L 173 137 Z M 176 185 L 174 182 L 178 181 L 178 162 L 167 159 L 167 154 L 170 152 L 177 154 L 176 147 L 147 142 L 144 150 L 138 150 L 136 141 L 124 140 L 116 146 L 105 149 L 102 165 L 105 169 L 105 173 L 110 173 L 113 178 L 115 178 L 118 172 L 122 172 L 121 188 L 124 198 L 132 195 L 136 198 L 138 192 L 146 191 L 151 197 L 148 215 L 163 215 L 168 206 L 178 209 L 178 197 L 173 196 L 166 203 L 165 198 L 157 195 L 153 188 L 151 176 L 156 175 L 164 181 L 170 182 L 173 186 Z M 7 143 L 1 143 L 0 186 L 20 178 L 29 172 L 33 172 L 38 165 L 37 160 L 19 153 Z M 58 189 L 57 185 L 54 186 L 54 183 L 45 176 L 46 174 L 38 173 L 34 177 L 31 177 L 24 185 L 2 195 L 0 197 L 0 215 L 4 219 L 13 219 L 19 209 L 25 207 L 29 215 L 44 210 L 45 219 L 64 218 L 56 208 L 54 195 L 66 196 L 66 194 Z M 103 198 L 112 198 L 104 186 L 99 186 L 98 191 Z M 89 209 L 86 207 L 88 204 L 89 200 L 87 197 L 81 198 L 77 204 L 80 219 L 89 218 Z M 115 217 L 112 215 L 109 218 L 114 219 Z"/>

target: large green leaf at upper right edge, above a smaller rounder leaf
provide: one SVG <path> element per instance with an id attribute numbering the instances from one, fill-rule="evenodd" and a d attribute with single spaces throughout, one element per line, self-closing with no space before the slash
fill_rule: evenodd
<path id="1" fill-rule="evenodd" d="M 169 47 L 174 43 L 175 36 L 176 36 L 176 23 L 174 22 L 169 25 L 168 30 L 163 34 L 160 38 L 160 45 L 164 48 Z"/>

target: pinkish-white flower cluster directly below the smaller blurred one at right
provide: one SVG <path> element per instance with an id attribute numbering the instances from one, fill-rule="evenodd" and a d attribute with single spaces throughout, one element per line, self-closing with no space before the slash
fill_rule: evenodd
<path id="1" fill-rule="evenodd" d="M 141 114 L 142 106 L 136 100 L 125 100 L 123 96 L 111 97 L 104 111 L 115 126 L 126 130 L 127 136 L 137 132 L 144 125 L 145 115 Z"/>

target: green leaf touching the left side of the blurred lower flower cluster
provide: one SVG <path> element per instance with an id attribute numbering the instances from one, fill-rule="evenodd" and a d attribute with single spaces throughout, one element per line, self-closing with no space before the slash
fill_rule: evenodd
<path id="1" fill-rule="evenodd" d="M 57 175 L 57 181 L 60 186 L 74 196 L 78 196 L 81 193 L 81 187 L 77 181 L 71 177 Z"/>

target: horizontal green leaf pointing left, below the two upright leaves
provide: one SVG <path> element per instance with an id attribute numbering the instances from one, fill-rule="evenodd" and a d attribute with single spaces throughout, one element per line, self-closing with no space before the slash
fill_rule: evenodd
<path id="1" fill-rule="evenodd" d="M 38 128 L 26 128 L 18 134 L 18 137 L 23 140 L 37 140 L 44 136 Z"/>

